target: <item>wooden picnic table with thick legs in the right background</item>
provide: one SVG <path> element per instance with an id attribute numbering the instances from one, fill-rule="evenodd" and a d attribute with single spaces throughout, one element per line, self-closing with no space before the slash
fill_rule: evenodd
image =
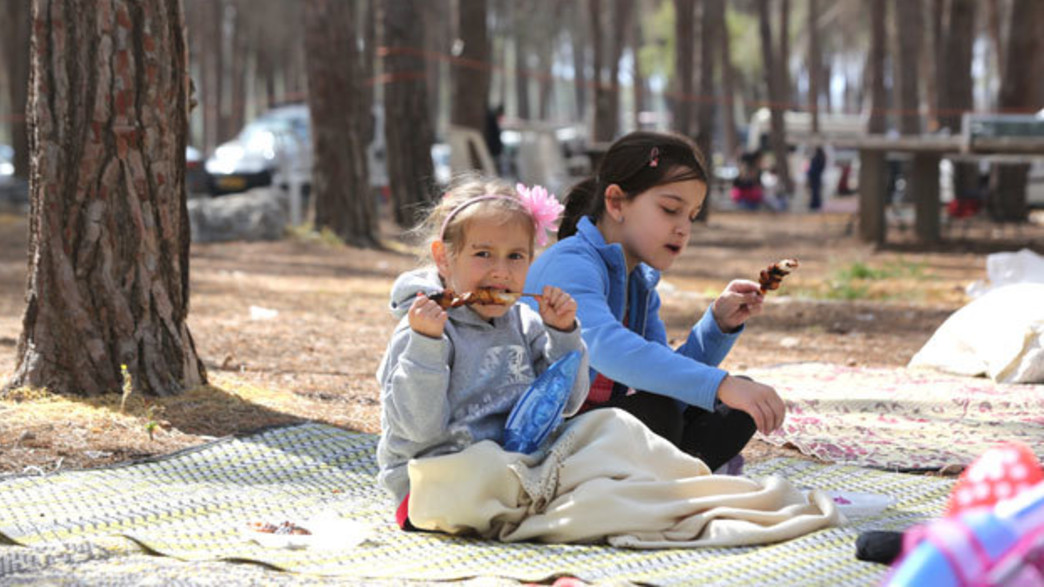
<path id="1" fill-rule="evenodd" d="M 902 136 L 868 135 L 841 139 L 835 147 L 859 151 L 859 237 L 884 242 L 887 227 L 884 209 L 888 202 L 889 155 L 911 156 L 909 192 L 914 194 L 914 230 L 922 242 L 940 240 L 941 199 L 939 164 L 944 157 L 989 158 L 1004 163 L 1024 163 L 1044 156 L 1044 119 L 1023 115 L 965 115 L 960 135 Z"/>

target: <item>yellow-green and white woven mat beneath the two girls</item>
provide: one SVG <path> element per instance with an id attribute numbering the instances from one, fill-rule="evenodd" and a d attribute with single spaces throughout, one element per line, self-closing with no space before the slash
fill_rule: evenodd
<path id="1" fill-rule="evenodd" d="M 878 581 L 885 568 L 855 560 L 859 532 L 901 530 L 938 516 L 951 486 L 941 478 L 781 459 L 752 466 L 748 474 L 780 474 L 802 487 L 883 493 L 896 506 L 845 527 L 761 547 L 638 551 L 499 544 L 399 531 L 374 483 L 375 444 L 373 436 L 303 424 L 149 463 L 6 479 L 0 483 L 0 537 L 29 548 L 0 549 L 0 574 L 22 567 L 39 570 L 46 567 L 41 559 L 50 557 L 63 565 L 90 564 L 95 576 L 108 567 L 134 577 L 139 565 L 138 579 L 155 579 L 147 564 L 140 565 L 147 560 L 144 548 L 189 561 L 183 564 L 252 561 L 355 580 L 573 576 L 650 584 L 865 585 Z M 369 525 L 372 539 L 351 549 L 285 550 L 264 548 L 240 534 L 250 520 L 301 520 L 319 510 Z M 163 560 L 156 566 L 168 566 L 170 559 Z"/>

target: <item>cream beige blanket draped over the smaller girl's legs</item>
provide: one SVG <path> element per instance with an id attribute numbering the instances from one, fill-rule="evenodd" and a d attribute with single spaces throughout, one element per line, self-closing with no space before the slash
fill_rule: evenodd
<path id="1" fill-rule="evenodd" d="M 630 414 L 570 420 L 535 454 L 483 441 L 409 463 L 413 525 L 515 542 L 606 542 L 633 548 L 737 546 L 837 525 L 825 493 L 781 477 L 712 475 Z"/>

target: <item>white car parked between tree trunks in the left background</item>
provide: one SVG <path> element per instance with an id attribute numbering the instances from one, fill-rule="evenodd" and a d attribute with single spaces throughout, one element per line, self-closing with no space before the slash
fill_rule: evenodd
<path id="1" fill-rule="evenodd" d="M 214 149 L 205 167 L 214 195 L 272 184 L 286 188 L 294 179 L 307 193 L 312 168 L 308 107 L 288 104 L 262 114 Z"/>

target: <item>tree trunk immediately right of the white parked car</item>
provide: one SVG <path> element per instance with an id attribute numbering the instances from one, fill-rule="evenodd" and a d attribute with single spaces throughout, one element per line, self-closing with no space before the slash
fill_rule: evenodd
<path id="1" fill-rule="evenodd" d="M 377 210 L 370 192 L 359 49 L 354 2 L 308 0 L 305 54 L 312 123 L 315 228 L 357 246 L 377 243 Z"/>

